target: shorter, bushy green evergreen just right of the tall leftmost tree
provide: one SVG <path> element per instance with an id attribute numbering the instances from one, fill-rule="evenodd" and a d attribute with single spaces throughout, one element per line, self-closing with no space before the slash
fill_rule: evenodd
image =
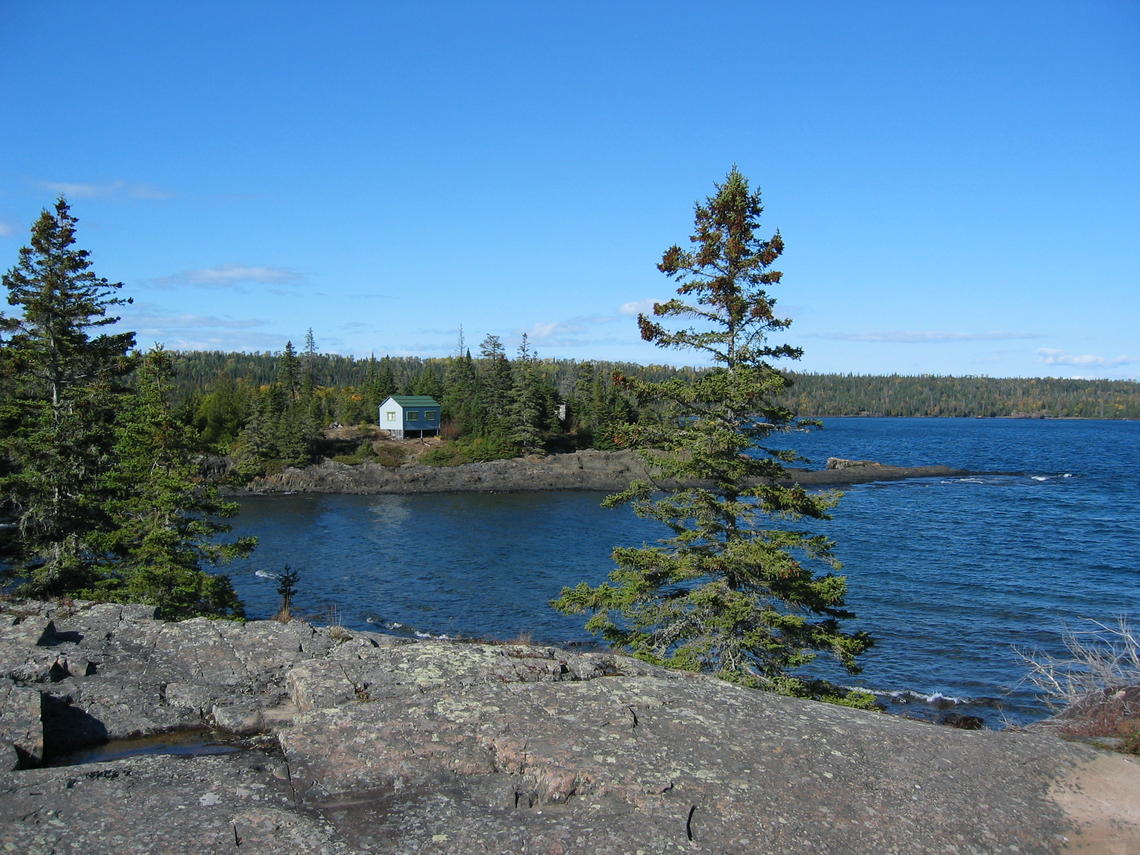
<path id="1" fill-rule="evenodd" d="M 202 564 L 247 555 L 256 539 L 219 543 L 218 536 L 229 530 L 219 520 L 234 516 L 237 504 L 223 502 L 206 482 L 194 434 L 174 418 L 171 377 L 170 355 L 161 348 L 150 351 L 114 448 L 109 510 L 115 528 L 104 545 L 117 561 L 89 594 L 150 603 L 171 619 L 241 616 L 228 577 L 210 575 Z"/>

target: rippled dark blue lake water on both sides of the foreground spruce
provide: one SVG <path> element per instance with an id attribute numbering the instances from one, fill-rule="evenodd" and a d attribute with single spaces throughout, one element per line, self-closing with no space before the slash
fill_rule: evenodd
<path id="1" fill-rule="evenodd" d="M 846 682 L 895 693 L 896 711 L 1045 714 L 1015 648 L 1061 653 L 1088 619 L 1140 616 L 1140 423 L 829 418 L 779 438 L 828 456 L 987 473 L 849 487 L 830 522 L 848 603 L 877 645 Z M 251 617 L 277 606 L 264 573 L 301 572 L 295 610 L 350 628 L 589 642 L 548 601 L 602 581 L 616 545 L 660 530 L 602 494 L 277 496 L 242 499 L 254 555 L 228 570 Z M 259 575 L 261 571 L 261 575 Z M 831 674 L 829 676 L 841 676 Z"/>

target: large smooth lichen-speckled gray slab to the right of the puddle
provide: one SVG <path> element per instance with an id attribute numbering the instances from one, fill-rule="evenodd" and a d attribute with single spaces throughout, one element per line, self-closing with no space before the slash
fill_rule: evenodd
<path id="1" fill-rule="evenodd" d="M 1058 852 L 1072 823 L 1050 787 L 1090 757 L 659 677 L 384 698 L 280 739 L 299 796 L 384 853 L 518 847 L 521 825 L 535 848 L 510 850 Z"/>

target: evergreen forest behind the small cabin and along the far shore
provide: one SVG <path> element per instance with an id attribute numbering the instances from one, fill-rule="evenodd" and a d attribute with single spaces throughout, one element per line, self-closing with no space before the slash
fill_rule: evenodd
<path id="1" fill-rule="evenodd" d="M 464 462 L 518 453 L 520 431 L 531 450 L 612 448 L 616 425 L 656 417 L 640 410 L 614 377 L 692 381 L 701 374 L 692 367 L 542 359 L 529 342 L 512 359 L 496 335 L 486 336 L 477 353 L 461 342 L 449 357 L 353 359 L 318 352 L 311 331 L 300 351 L 286 342 L 279 353 L 180 352 L 174 360 L 178 408 L 205 443 L 245 454 L 255 467 L 258 455 L 239 442 L 243 433 L 250 439 L 259 418 L 280 422 L 288 410 L 295 416 L 294 405 L 302 399 L 303 421 L 314 433 L 334 423 L 374 422 L 389 394 L 430 394 L 443 406 L 443 435 L 466 442 L 466 454 L 437 458 Z M 781 402 L 805 417 L 1140 417 L 1140 383 L 1134 381 L 785 376 L 789 389 Z M 527 413 L 518 409 L 524 400 Z"/>

